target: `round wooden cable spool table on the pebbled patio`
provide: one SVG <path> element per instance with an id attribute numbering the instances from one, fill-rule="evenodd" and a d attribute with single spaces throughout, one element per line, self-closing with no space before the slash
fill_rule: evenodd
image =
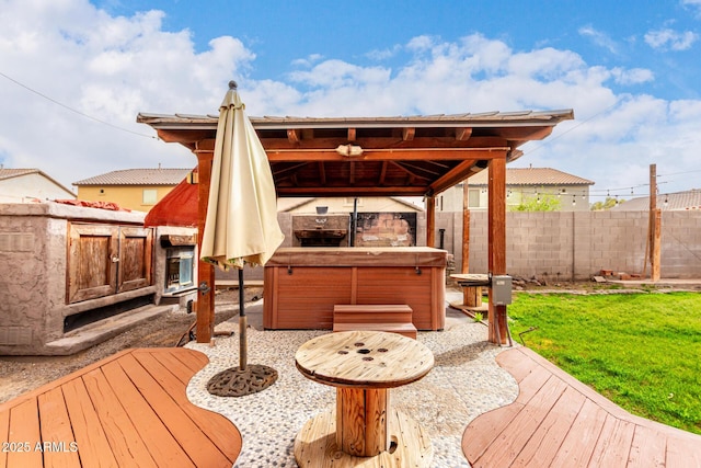
<path id="1" fill-rule="evenodd" d="M 434 355 L 425 345 L 398 333 L 336 332 L 302 344 L 295 362 L 304 377 L 336 387 L 335 410 L 308 421 L 295 440 L 300 467 L 429 466 L 430 441 L 390 407 L 389 393 L 428 374 Z"/>

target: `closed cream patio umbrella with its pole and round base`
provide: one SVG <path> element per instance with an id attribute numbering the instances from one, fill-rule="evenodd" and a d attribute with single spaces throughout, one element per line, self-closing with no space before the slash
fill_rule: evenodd
<path id="1" fill-rule="evenodd" d="M 244 109 L 235 82 L 229 82 L 219 107 L 200 251 L 203 261 L 222 270 L 239 270 L 240 364 L 238 370 L 225 370 L 209 381 L 209 391 L 220 396 L 258 391 L 267 387 L 261 381 L 263 376 L 274 374 L 272 381 L 277 378 L 274 369 L 246 363 L 243 265 L 265 264 L 285 236 L 277 222 L 275 183 L 267 155 Z"/>

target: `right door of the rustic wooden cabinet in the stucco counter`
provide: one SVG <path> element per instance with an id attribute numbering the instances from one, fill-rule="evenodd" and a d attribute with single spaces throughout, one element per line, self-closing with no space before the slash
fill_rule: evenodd
<path id="1" fill-rule="evenodd" d="M 117 292 L 151 285 L 151 228 L 123 227 L 119 230 L 119 267 Z"/>

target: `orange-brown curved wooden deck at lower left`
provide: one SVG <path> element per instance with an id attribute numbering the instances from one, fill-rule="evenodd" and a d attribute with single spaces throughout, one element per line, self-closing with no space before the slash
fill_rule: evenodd
<path id="1" fill-rule="evenodd" d="M 0 467 L 231 467 L 239 430 L 185 395 L 207 362 L 126 350 L 0 404 Z"/>

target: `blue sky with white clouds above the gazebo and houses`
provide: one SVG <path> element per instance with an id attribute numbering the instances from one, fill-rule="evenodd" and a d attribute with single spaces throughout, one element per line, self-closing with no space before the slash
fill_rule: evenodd
<path id="1" fill-rule="evenodd" d="M 249 116 L 574 111 L 514 168 L 590 202 L 701 189 L 701 0 L 0 0 L 0 164 L 66 187 L 194 168 L 139 112 Z"/>

